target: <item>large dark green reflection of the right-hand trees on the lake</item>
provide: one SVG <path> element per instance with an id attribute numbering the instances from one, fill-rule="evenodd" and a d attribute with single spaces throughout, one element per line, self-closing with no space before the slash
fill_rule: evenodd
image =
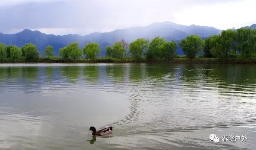
<path id="1" fill-rule="evenodd" d="M 221 88 L 220 93 L 253 91 L 256 86 L 256 66 L 240 64 L 184 64 L 180 69 L 180 79 L 185 86 Z M 244 88 L 244 85 L 254 85 Z"/>

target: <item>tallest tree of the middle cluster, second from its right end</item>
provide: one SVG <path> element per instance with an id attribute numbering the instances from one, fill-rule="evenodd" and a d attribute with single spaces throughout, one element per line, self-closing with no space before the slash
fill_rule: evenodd
<path id="1" fill-rule="evenodd" d="M 150 43 L 148 51 L 146 52 L 146 58 L 148 59 L 159 59 L 163 58 L 163 47 L 166 43 L 164 38 L 156 37 Z"/>

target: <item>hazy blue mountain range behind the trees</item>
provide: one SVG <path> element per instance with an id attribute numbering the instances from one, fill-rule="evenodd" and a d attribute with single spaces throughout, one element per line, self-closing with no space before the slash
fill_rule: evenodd
<path id="1" fill-rule="evenodd" d="M 253 26 L 253 25 L 252 25 Z M 255 25 L 253 27 L 256 27 Z M 0 43 L 6 45 L 12 44 L 16 46 L 23 46 L 26 43 L 34 43 L 38 46 L 41 54 L 44 53 L 44 48 L 47 45 L 54 47 L 55 54 L 58 54 L 58 49 L 67 46 L 69 43 L 78 42 L 81 47 L 84 47 L 89 42 L 97 42 L 102 48 L 101 55 L 105 55 L 105 47 L 113 45 L 118 40 L 125 40 L 128 43 L 137 38 L 152 39 L 156 36 L 165 38 L 166 40 L 179 41 L 186 38 L 187 35 L 199 35 L 201 38 L 206 38 L 210 35 L 221 33 L 221 30 L 208 26 L 184 26 L 172 22 L 153 23 L 149 26 L 133 27 L 128 29 L 117 29 L 112 32 L 99 33 L 94 32 L 89 35 L 47 35 L 39 31 L 31 31 L 24 29 L 22 32 L 15 34 L 0 33 Z M 178 49 L 178 54 L 183 52 Z"/>

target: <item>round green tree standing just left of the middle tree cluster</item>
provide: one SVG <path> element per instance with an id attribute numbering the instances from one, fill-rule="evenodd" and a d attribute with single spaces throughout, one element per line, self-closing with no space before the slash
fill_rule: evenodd
<path id="1" fill-rule="evenodd" d="M 95 43 L 95 42 L 88 43 L 84 47 L 84 54 L 87 59 L 96 59 L 99 53 L 100 53 L 100 48 L 98 43 Z"/>

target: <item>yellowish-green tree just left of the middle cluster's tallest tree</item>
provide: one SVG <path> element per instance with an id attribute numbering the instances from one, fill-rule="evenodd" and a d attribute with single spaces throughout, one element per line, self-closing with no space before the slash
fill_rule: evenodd
<path id="1" fill-rule="evenodd" d="M 149 40 L 138 38 L 134 42 L 130 43 L 129 51 L 132 58 L 140 59 L 145 55 L 148 50 Z"/>

